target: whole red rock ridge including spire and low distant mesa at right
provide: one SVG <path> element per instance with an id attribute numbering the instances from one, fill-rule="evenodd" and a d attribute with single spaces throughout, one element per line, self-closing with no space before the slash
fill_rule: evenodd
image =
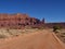
<path id="1" fill-rule="evenodd" d="M 6 27 L 6 28 L 23 28 L 25 26 L 31 26 L 31 27 L 48 27 L 52 28 L 54 25 L 62 26 L 65 28 L 65 22 L 63 23 L 44 23 L 44 19 L 42 21 L 29 17 L 27 14 L 0 14 L 0 28 Z"/>

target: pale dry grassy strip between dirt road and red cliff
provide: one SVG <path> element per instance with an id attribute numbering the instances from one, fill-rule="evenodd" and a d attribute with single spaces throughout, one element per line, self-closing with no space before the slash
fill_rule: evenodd
<path id="1" fill-rule="evenodd" d="M 13 36 L 18 36 L 22 34 L 28 34 L 28 33 L 35 33 L 38 32 L 37 28 L 30 28 L 30 29 L 8 29 L 8 28 L 0 28 L 0 38 L 8 38 Z"/>

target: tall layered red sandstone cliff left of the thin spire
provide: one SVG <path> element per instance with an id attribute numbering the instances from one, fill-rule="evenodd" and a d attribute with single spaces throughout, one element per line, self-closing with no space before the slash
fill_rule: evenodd
<path id="1" fill-rule="evenodd" d="M 0 14 L 0 27 L 22 28 L 40 24 L 40 20 L 29 17 L 27 14 Z"/>

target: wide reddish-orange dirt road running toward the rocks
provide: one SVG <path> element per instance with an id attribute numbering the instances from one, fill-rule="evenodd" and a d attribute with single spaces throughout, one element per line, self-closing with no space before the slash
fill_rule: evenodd
<path id="1" fill-rule="evenodd" d="M 0 40 L 0 49 L 65 49 L 53 32 L 39 30 Z"/>

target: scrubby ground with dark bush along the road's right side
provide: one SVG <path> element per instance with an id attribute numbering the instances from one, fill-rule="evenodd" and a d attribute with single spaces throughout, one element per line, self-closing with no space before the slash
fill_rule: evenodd
<path id="1" fill-rule="evenodd" d="M 62 28 L 61 26 L 53 26 L 53 32 L 63 42 L 65 42 L 65 28 Z"/>

